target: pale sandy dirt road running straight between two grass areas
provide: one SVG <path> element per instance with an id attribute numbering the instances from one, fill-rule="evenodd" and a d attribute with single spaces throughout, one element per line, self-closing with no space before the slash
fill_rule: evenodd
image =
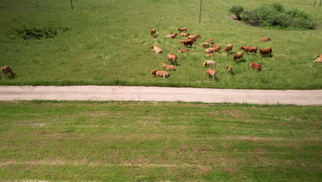
<path id="1" fill-rule="evenodd" d="M 129 86 L 0 86 L 0 100 L 184 101 L 322 105 L 322 90 L 235 90 Z"/>

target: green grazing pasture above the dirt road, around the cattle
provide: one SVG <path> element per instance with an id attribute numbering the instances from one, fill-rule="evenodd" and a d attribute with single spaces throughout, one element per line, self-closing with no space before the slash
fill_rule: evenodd
<path id="1" fill-rule="evenodd" d="M 254 28 L 230 19 L 229 8 L 242 4 L 246 9 L 261 1 L 133 0 L 133 1 L 2 0 L 0 2 L 0 65 L 10 65 L 13 79 L 1 85 L 155 85 L 197 88 L 321 89 L 321 68 L 312 62 L 322 53 L 319 30 L 275 30 Z M 314 1 L 281 0 L 286 10 L 308 12 L 319 28 L 322 15 Z M 300 4 L 297 4 L 300 3 Z M 179 54 L 181 38 L 165 39 L 178 27 L 187 27 L 202 37 L 188 54 Z M 52 39 L 24 40 L 17 30 L 37 28 L 61 32 Z M 68 28 L 66 32 L 59 28 Z M 157 29 L 157 37 L 149 30 Z M 260 38 L 272 37 L 261 43 Z M 204 39 L 215 39 L 222 47 L 234 43 L 273 48 L 273 57 L 245 54 L 234 63 L 223 51 L 216 53 L 217 80 L 207 79 L 202 62 L 208 60 L 201 48 Z M 155 54 L 149 46 L 164 50 Z M 180 45 L 183 48 L 182 45 Z M 178 55 L 177 71 L 169 79 L 153 78 L 151 70 L 162 69 L 167 54 Z M 280 59 L 279 57 L 285 57 Z M 248 69 L 250 62 L 263 70 Z M 233 66 L 229 76 L 226 65 Z"/>

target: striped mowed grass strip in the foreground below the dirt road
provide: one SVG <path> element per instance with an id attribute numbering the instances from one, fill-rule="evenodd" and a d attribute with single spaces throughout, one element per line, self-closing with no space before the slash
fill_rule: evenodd
<path id="1" fill-rule="evenodd" d="M 321 179 L 321 106 L 0 103 L 0 181 Z"/>

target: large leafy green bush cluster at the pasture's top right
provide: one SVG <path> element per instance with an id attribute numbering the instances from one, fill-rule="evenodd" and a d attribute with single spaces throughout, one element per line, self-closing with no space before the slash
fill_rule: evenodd
<path id="1" fill-rule="evenodd" d="M 264 3 L 255 8 L 255 10 L 238 11 L 238 15 L 236 11 L 233 12 L 232 7 L 230 8 L 230 12 L 252 26 L 299 29 L 313 29 L 315 26 L 310 14 L 297 9 L 286 11 L 279 3 Z"/>

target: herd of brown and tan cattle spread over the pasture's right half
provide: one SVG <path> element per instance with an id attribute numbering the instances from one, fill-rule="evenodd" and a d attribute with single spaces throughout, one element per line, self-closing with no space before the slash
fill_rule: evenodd
<path id="1" fill-rule="evenodd" d="M 197 41 L 197 39 L 199 39 L 201 36 L 200 35 L 191 35 L 189 33 L 187 33 L 187 28 L 177 28 L 177 30 L 180 32 L 180 34 L 178 33 L 173 33 L 171 32 L 171 34 L 167 35 L 166 38 L 168 39 L 175 39 L 175 37 L 180 36 L 180 37 L 187 37 L 187 39 L 183 39 L 182 41 L 179 41 L 179 43 L 183 43 L 184 46 L 189 46 L 190 48 L 193 46 L 193 43 L 195 43 L 195 41 Z M 184 33 L 185 32 L 185 33 Z M 155 36 L 156 34 L 156 30 L 152 29 L 150 30 L 150 35 L 151 36 Z M 270 41 L 271 38 L 267 38 L 267 39 L 259 39 L 259 41 L 262 42 L 266 42 L 266 41 Z M 204 53 L 206 53 L 206 55 L 208 57 L 213 57 L 215 52 L 218 52 L 221 47 L 217 44 L 215 44 L 214 39 L 206 39 L 205 43 L 202 43 L 202 48 L 207 48 L 206 50 L 204 50 Z M 209 43 L 211 42 L 211 43 Z M 211 48 L 209 48 L 211 46 Z M 161 54 L 162 53 L 162 49 L 155 46 L 155 45 L 151 45 L 151 48 L 153 49 L 153 52 L 157 53 L 157 54 Z M 227 52 L 227 54 L 233 50 L 233 43 L 230 43 L 226 46 L 226 48 L 224 48 L 224 51 Z M 244 50 L 244 52 L 248 52 L 248 53 L 253 53 L 253 54 L 257 54 L 257 48 L 253 47 L 253 46 L 241 46 L 240 50 Z M 272 55 L 272 48 L 263 48 L 263 49 L 258 49 L 259 53 L 262 56 L 271 56 Z M 184 53 L 184 52 L 189 52 L 189 50 L 182 50 L 181 48 L 178 48 L 178 52 L 179 53 Z M 237 52 L 235 54 L 233 54 L 233 59 L 234 61 L 237 61 L 238 59 L 242 59 L 243 57 L 243 52 Z M 177 63 L 177 59 L 178 57 L 175 54 L 168 54 L 167 55 L 167 59 L 173 64 L 173 65 L 167 65 L 167 63 L 164 63 L 164 61 L 162 61 L 162 67 L 166 70 L 175 70 L 175 65 Z M 319 62 L 322 63 L 322 54 L 318 55 L 318 59 L 315 60 L 315 62 Z M 204 61 L 203 63 L 204 66 L 214 66 L 215 62 L 214 61 Z M 261 71 L 261 65 L 259 65 L 258 63 L 250 63 L 249 64 L 250 68 L 253 68 L 255 70 Z M 228 70 L 228 74 L 231 73 L 232 67 L 231 66 L 226 66 L 226 70 Z M 216 74 L 217 71 L 213 70 L 212 68 L 208 68 L 205 71 L 206 76 L 209 77 L 213 77 L 213 79 L 216 78 Z M 151 74 L 153 74 L 153 76 L 158 76 L 158 77 L 163 77 L 163 78 L 167 78 L 169 77 L 169 72 L 166 72 L 164 70 L 151 70 Z"/>

